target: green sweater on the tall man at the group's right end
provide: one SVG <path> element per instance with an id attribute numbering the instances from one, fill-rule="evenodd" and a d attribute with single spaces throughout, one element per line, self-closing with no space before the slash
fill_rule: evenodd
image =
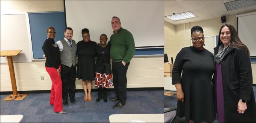
<path id="1" fill-rule="evenodd" d="M 114 32 L 114 31 L 113 31 Z M 114 62 L 130 62 L 135 52 L 135 44 L 132 34 L 122 27 L 115 34 L 112 34 L 109 41 L 110 57 Z"/>

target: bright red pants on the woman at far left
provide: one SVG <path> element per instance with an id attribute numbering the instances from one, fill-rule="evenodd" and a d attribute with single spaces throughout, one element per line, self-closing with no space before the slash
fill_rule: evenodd
<path id="1" fill-rule="evenodd" d="M 60 65 L 59 65 L 60 67 Z M 60 112 L 62 107 L 62 81 L 54 67 L 45 67 L 52 80 L 52 89 L 50 95 L 50 105 L 53 105 L 54 112 Z M 61 69 L 61 68 L 60 68 Z"/>

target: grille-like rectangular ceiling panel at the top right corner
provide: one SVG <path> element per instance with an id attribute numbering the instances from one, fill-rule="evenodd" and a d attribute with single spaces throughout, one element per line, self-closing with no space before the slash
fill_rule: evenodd
<path id="1" fill-rule="evenodd" d="M 248 7 L 248 6 L 255 6 L 256 5 L 256 0 L 235 0 L 231 2 L 226 2 L 224 3 L 227 10 L 237 10 L 240 8 Z"/>

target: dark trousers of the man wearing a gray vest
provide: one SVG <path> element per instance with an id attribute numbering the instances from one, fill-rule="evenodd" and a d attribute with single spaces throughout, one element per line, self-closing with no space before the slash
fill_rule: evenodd
<path id="1" fill-rule="evenodd" d="M 76 91 L 76 67 L 61 64 L 62 99 L 73 99 Z"/>

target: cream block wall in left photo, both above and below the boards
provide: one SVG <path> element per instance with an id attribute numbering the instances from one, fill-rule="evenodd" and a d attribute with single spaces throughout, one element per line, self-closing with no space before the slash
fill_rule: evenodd
<path id="1" fill-rule="evenodd" d="M 0 5 L 1 14 L 64 11 L 63 0 L 1 0 Z M 127 87 L 164 87 L 163 61 L 163 57 L 133 58 L 127 71 Z M 18 91 L 51 89 L 52 81 L 44 63 L 14 63 Z M 44 80 L 40 76 L 44 76 Z M 76 89 L 82 88 L 81 80 L 76 79 Z M 0 63 L 0 91 L 12 91 L 8 63 Z"/>

